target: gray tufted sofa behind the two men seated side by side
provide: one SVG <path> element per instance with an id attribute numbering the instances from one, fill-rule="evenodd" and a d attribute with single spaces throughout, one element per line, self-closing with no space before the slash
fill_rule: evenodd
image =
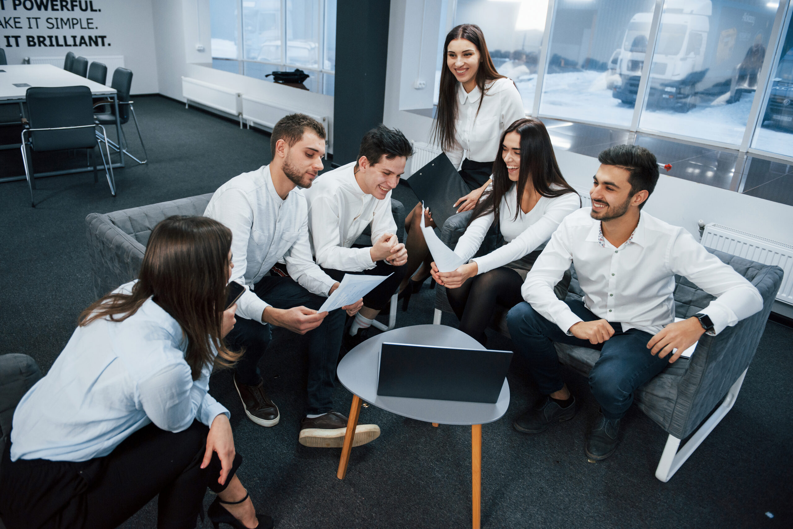
<path id="1" fill-rule="evenodd" d="M 160 220 L 171 215 L 203 215 L 212 195 L 202 194 L 113 213 L 90 213 L 86 217 L 86 235 L 94 297 L 102 297 L 137 277 L 151 229 Z M 391 209 L 397 221 L 397 236 L 404 240 L 404 206 L 392 200 Z"/>

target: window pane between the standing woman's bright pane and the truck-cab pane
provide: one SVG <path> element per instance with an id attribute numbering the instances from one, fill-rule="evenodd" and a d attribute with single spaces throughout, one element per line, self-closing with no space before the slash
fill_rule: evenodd
<path id="1" fill-rule="evenodd" d="M 630 125 L 653 0 L 557 0 L 540 113 Z"/>

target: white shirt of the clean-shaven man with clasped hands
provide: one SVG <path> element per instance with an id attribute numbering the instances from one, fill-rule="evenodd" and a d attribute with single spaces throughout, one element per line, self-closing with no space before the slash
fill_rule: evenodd
<path id="1" fill-rule="evenodd" d="M 309 189 L 308 229 L 316 263 L 332 270 L 360 272 L 375 264 L 369 248 L 354 248 L 353 243 L 366 226 L 372 227 L 372 244 L 383 233 L 396 233 L 391 213 L 391 192 L 382 200 L 366 194 L 355 180 L 355 162 L 320 174 Z"/>

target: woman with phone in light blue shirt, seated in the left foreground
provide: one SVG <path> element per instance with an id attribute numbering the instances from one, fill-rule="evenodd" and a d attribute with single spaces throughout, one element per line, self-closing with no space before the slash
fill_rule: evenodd
<path id="1" fill-rule="evenodd" d="M 0 474 L 8 529 L 117 527 L 158 494 L 158 527 L 196 527 L 208 486 L 215 527 L 273 527 L 236 477 L 229 413 L 209 395 L 213 366 L 238 356 L 223 344 L 231 244 L 216 220 L 169 217 L 139 279 L 82 312 L 13 414 Z"/>

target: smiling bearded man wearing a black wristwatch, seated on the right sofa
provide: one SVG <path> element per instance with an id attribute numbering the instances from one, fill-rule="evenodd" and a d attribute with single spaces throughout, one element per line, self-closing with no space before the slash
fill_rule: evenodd
<path id="1" fill-rule="evenodd" d="M 516 351 L 527 360 L 542 393 L 513 424 L 524 433 L 572 419 L 576 401 L 561 378 L 553 342 L 600 350 L 589 387 L 600 404 L 586 443 L 588 458 L 617 447 L 619 422 L 634 391 L 699 340 L 762 309 L 757 289 L 709 253 L 684 228 L 643 213 L 658 180 L 646 148 L 616 145 L 598 156 L 589 196 L 592 208 L 561 221 L 534 263 L 521 293 L 526 303 L 508 313 Z M 583 301 L 559 301 L 554 285 L 570 263 Z M 675 274 L 716 297 L 699 314 L 674 322 Z"/>

